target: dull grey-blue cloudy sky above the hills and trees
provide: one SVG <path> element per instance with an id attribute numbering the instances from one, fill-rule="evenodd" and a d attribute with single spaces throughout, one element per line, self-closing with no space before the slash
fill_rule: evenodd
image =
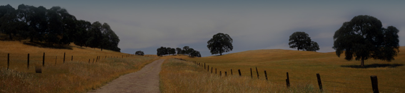
<path id="1" fill-rule="evenodd" d="M 201 56 L 213 56 L 207 41 L 217 33 L 233 39 L 224 54 L 289 48 L 289 36 L 308 33 L 317 52 L 335 52 L 333 35 L 358 15 L 379 19 L 383 27 L 399 29 L 405 45 L 405 0 L 2 0 L 17 9 L 60 6 L 78 20 L 108 23 L 119 36 L 121 52 L 156 54 L 163 47 L 190 46 Z M 214 54 L 215 55 L 215 54 Z"/>

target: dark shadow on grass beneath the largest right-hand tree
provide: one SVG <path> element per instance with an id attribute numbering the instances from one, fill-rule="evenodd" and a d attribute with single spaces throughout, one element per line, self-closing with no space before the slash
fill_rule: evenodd
<path id="1" fill-rule="evenodd" d="M 348 68 L 395 68 L 397 66 L 403 66 L 403 64 L 368 64 L 361 67 L 360 65 L 342 65 L 341 67 L 348 67 Z"/>

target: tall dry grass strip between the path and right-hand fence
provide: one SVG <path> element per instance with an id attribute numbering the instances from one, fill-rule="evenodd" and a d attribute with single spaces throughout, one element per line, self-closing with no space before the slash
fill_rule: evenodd
<path id="1" fill-rule="evenodd" d="M 168 59 L 162 64 L 160 89 L 162 93 L 318 93 L 317 87 L 299 84 L 290 89 L 264 79 L 250 76 L 211 74 L 190 62 Z"/>

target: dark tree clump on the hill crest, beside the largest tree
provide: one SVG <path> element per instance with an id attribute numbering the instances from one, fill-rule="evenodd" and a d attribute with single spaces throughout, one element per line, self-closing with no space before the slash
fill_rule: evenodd
<path id="1" fill-rule="evenodd" d="M 297 48 L 297 50 L 304 51 L 317 51 L 319 50 L 318 43 L 311 41 L 311 37 L 305 32 L 294 32 L 290 35 L 288 45 L 290 48 Z"/>

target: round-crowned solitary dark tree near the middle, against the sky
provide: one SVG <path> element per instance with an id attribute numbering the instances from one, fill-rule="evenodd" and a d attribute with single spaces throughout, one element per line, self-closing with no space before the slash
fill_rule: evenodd
<path id="1" fill-rule="evenodd" d="M 211 54 L 220 54 L 232 51 L 232 38 L 228 34 L 217 33 L 207 42 Z"/>

